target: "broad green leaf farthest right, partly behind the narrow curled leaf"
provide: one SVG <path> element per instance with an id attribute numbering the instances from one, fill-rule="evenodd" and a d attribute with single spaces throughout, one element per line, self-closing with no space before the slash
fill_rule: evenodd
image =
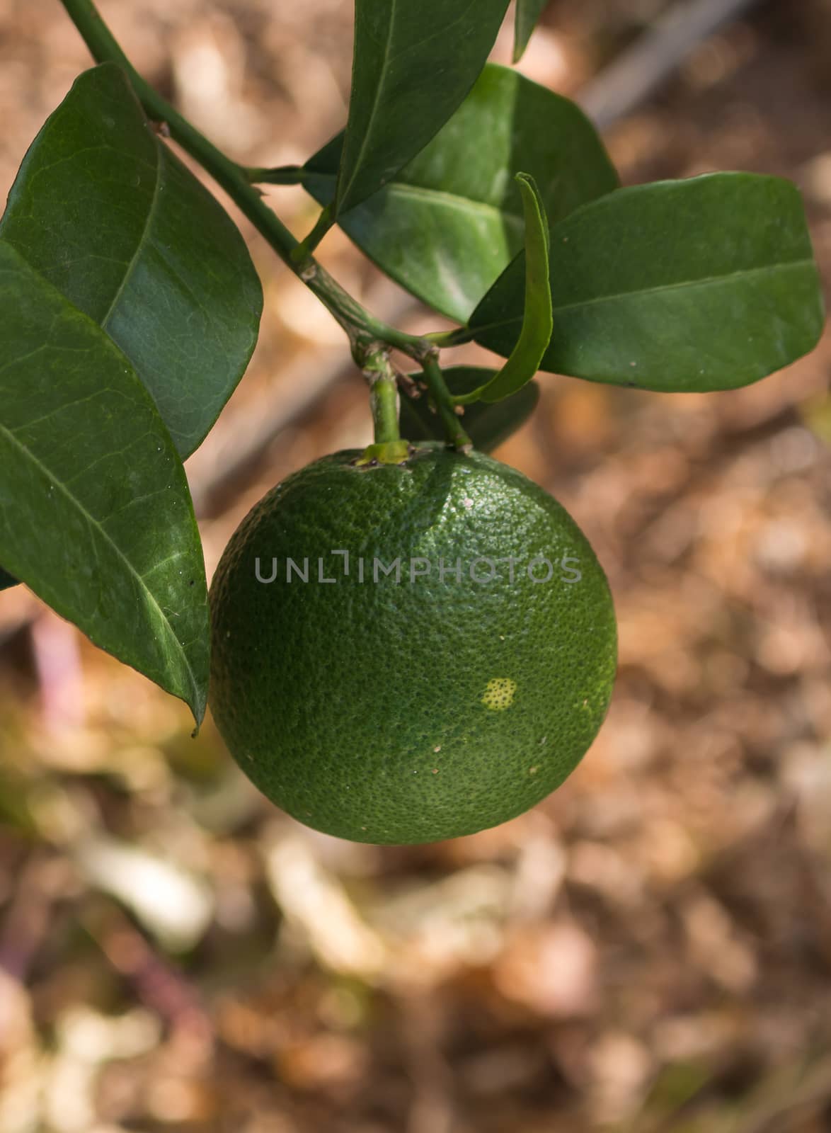
<path id="1" fill-rule="evenodd" d="M 552 227 L 554 332 L 541 368 L 644 390 L 725 390 L 806 353 L 822 296 L 799 193 L 712 173 L 620 189 Z M 519 256 L 470 320 L 507 355 L 522 325 Z"/>

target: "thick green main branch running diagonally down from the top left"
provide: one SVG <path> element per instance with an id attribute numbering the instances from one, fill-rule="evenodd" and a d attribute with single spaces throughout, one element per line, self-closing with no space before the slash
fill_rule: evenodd
<path id="1" fill-rule="evenodd" d="M 260 174 L 263 170 L 247 169 L 232 161 L 153 90 L 130 63 L 118 40 L 101 18 L 93 0 L 61 0 L 61 3 L 95 61 L 100 63 L 114 62 L 126 71 L 147 116 L 153 121 L 163 122 L 166 126 L 173 140 L 178 142 L 182 150 L 189 153 L 228 193 L 283 263 L 317 296 L 349 335 L 353 353 L 359 340 L 371 339 L 395 347 L 410 358 L 420 360 L 423 357 L 425 352 L 430 349 L 430 343 L 426 339 L 416 334 L 406 334 L 404 331 L 376 318 L 344 291 L 325 267 L 317 263 L 309 254 L 310 248 L 306 255 L 298 253 L 297 255 L 301 256 L 301 262 L 295 262 L 292 254 L 302 245 L 266 205 L 259 189 L 251 185 L 252 174 Z M 317 227 L 315 228 L 317 229 Z M 322 237 L 323 232 L 319 236 Z"/>

